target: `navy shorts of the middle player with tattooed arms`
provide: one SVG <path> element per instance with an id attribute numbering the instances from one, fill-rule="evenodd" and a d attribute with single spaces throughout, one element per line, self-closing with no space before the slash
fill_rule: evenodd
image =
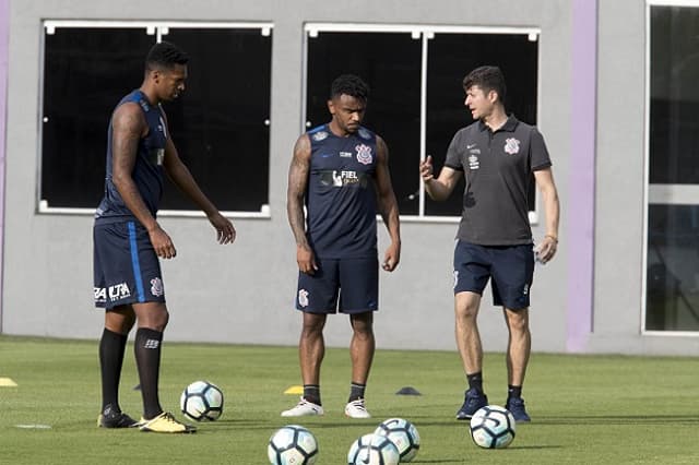
<path id="1" fill-rule="evenodd" d="M 309 313 L 363 313 L 378 310 L 379 261 L 316 259 L 313 275 L 298 273 L 296 308 Z"/>

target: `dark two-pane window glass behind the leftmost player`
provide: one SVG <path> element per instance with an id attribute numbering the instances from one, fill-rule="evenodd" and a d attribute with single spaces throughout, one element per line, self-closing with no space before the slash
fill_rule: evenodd
<path id="1" fill-rule="evenodd" d="M 180 157 L 221 211 L 264 211 L 270 28 L 192 25 L 163 32 L 164 40 L 190 55 L 185 94 L 164 104 Z M 49 210 L 95 208 L 99 203 L 111 111 L 141 85 L 143 61 L 155 40 L 138 24 L 58 26 L 45 35 L 39 200 Z M 169 182 L 161 208 L 198 210 Z"/>

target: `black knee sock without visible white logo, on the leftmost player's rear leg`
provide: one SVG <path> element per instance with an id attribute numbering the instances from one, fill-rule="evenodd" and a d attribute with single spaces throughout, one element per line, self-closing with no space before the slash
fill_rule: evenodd
<path id="1" fill-rule="evenodd" d="M 127 335 L 115 333 L 105 327 L 99 339 L 99 370 L 102 372 L 102 412 L 108 407 L 121 412 L 119 407 L 119 380 Z"/>

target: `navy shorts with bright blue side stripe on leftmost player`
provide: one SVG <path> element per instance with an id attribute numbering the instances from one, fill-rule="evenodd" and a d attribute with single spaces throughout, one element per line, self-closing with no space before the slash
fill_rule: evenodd
<path id="1" fill-rule="evenodd" d="M 93 241 L 96 307 L 165 301 L 161 263 L 140 223 L 95 224 Z"/>

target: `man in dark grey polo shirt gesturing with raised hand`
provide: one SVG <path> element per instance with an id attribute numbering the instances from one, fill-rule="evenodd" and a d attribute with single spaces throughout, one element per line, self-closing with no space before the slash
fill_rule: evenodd
<path id="1" fill-rule="evenodd" d="M 494 303 L 502 307 L 509 331 L 506 407 L 517 421 L 530 421 L 521 396 L 531 351 L 529 296 L 534 259 L 546 263 L 556 253 L 558 193 L 542 134 L 506 112 L 500 69 L 477 68 L 464 78 L 463 87 L 464 104 L 475 122 L 454 135 L 439 177 L 434 177 L 431 157 L 419 165 L 433 200 L 446 200 L 462 175 L 466 181 L 453 273 L 457 345 L 469 390 L 457 419 L 469 419 L 488 404 L 477 315 L 483 289 L 491 278 Z M 546 217 L 546 235 L 534 253 L 528 208 L 532 174 Z"/>

